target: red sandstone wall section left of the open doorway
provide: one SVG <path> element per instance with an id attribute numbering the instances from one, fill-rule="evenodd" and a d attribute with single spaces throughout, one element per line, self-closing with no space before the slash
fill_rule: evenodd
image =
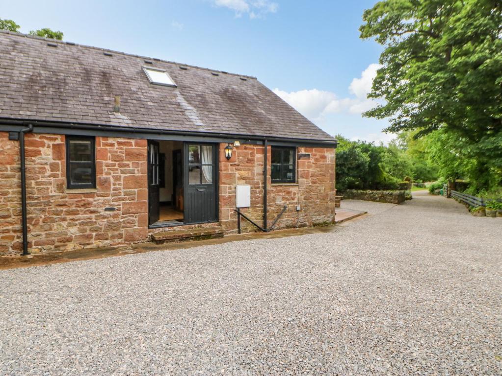
<path id="1" fill-rule="evenodd" d="M 19 142 L 0 132 L 0 151 L 0 254 L 19 253 Z M 96 189 L 80 193 L 66 190 L 65 137 L 27 134 L 26 180 L 31 252 L 148 237 L 146 140 L 96 137 Z"/>

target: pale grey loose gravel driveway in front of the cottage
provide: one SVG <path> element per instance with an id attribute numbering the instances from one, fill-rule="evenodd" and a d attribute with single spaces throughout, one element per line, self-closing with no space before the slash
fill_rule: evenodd
<path id="1" fill-rule="evenodd" d="M 333 232 L 0 272 L 0 374 L 502 373 L 502 219 L 421 192 Z"/>

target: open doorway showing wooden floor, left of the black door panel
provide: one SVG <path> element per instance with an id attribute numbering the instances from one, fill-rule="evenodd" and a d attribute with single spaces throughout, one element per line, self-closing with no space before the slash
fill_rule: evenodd
<path id="1" fill-rule="evenodd" d="M 149 224 L 183 224 L 183 142 L 149 141 L 148 145 Z"/>

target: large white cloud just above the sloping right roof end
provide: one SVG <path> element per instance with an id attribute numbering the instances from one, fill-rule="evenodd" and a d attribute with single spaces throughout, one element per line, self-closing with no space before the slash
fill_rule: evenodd
<path id="1" fill-rule="evenodd" d="M 362 114 L 378 104 L 372 99 L 367 99 L 366 95 L 371 90 L 376 70 L 379 68 L 378 64 L 370 64 L 361 73 L 360 78 L 352 80 L 349 91 L 355 97 L 351 98 L 339 99 L 333 92 L 318 89 L 300 90 L 290 93 L 274 89 L 274 93 L 312 121 L 334 113 Z"/>

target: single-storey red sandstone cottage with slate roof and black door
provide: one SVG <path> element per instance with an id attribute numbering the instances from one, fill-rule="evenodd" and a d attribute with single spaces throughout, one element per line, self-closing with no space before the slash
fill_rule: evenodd
<path id="1" fill-rule="evenodd" d="M 256 230 L 237 207 L 334 221 L 336 141 L 255 77 L 9 32 L 0 51 L 0 254 Z"/>

